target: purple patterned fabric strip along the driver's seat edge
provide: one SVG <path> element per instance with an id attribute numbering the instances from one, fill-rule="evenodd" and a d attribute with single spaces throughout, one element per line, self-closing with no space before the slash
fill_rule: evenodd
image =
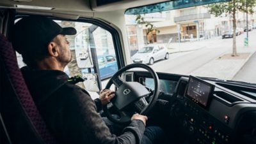
<path id="1" fill-rule="evenodd" d="M 4 67 L 8 78 L 12 83 L 13 90 L 17 94 L 17 97 L 19 97 L 19 101 L 31 120 L 31 123 L 35 127 L 35 130 L 45 143 L 56 143 L 52 135 L 47 130 L 45 122 L 40 116 L 31 94 L 29 93 L 28 87 L 26 86 L 18 66 L 15 51 L 13 50 L 11 43 L 5 36 L 3 36 L 3 34 L 0 34 L 0 54 L 1 57 L 3 57 Z"/>

